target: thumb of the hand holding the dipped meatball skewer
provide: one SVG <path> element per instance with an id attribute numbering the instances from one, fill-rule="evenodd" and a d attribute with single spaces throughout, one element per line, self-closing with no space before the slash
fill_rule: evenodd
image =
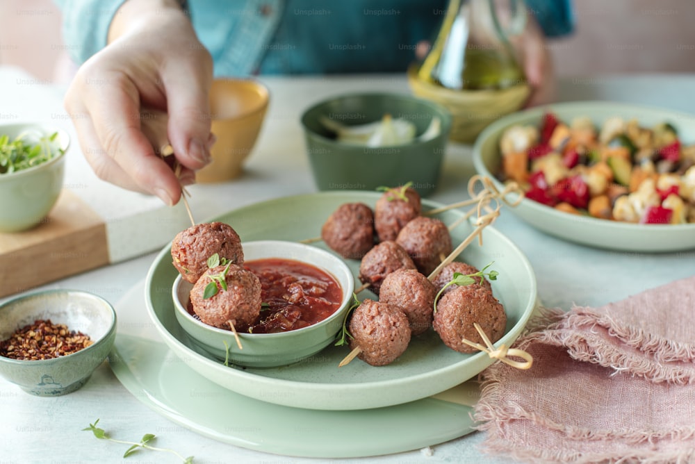
<path id="1" fill-rule="evenodd" d="M 190 169 L 200 169 L 211 160 L 211 81 L 211 71 L 188 68 L 164 82 L 169 115 L 167 135 L 179 163 Z"/>

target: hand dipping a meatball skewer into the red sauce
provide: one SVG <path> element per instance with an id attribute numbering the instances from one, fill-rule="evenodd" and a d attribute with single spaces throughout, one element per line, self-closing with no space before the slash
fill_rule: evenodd
<path id="1" fill-rule="evenodd" d="M 173 205 L 179 180 L 192 183 L 210 160 L 211 81 L 211 56 L 176 1 L 129 0 L 108 46 L 76 73 L 65 108 L 99 178 Z M 145 108 L 167 112 L 168 121 L 141 117 Z M 183 167 L 179 179 L 158 155 L 167 141 Z"/>

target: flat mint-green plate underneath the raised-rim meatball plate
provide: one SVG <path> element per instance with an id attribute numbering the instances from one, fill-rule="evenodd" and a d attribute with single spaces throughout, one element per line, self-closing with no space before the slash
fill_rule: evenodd
<path id="1" fill-rule="evenodd" d="M 143 404 L 203 436 L 286 456 L 354 458 L 420 449 L 472 431 L 471 406 L 447 399 L 475 404 L 471 382 L 443 399 L 358 411 L 291 408 L 231 392 L 191 370 L 142 324 L 144 288 L 143 281 L 115 305 L 111 369 Z"/>

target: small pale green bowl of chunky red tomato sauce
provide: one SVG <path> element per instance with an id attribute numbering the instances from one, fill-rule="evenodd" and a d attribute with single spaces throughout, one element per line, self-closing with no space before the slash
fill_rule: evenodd
<path id="1" fill-rule="evenodd" d="M 306 360 L 335 342 L 354 292 L 345 261 L 298 242 L 259 240 L 242 246 L 244 267 L 259 278 L 261 299 L 258 317 L 235 327 L 241 348 L 231 327 L 213 326 L 210 320 L 203 322 L 204 313 L 196 313 L 190 302 L 193 284 L 181 276 L 174 281 L 175 315 L 195 345 L 227 365 L 279 367 Z M 200 279 L 209 280 L 206 275 Z M 205 298 L 204 304 L 226 304 L 238 293 L 232 285 Z"/>

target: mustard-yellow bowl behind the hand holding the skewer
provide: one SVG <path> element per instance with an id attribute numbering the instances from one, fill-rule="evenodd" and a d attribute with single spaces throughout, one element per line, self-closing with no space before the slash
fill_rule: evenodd
<path id="1" fill-rule="evenodd" d="M 212 163 L 197 172 L 197 182 L 224 182 L 241 174 L 263 126 L 269 97 L 268 88 L 252 79 L 213 81 L 210 109 L 217 142 Z"/>

